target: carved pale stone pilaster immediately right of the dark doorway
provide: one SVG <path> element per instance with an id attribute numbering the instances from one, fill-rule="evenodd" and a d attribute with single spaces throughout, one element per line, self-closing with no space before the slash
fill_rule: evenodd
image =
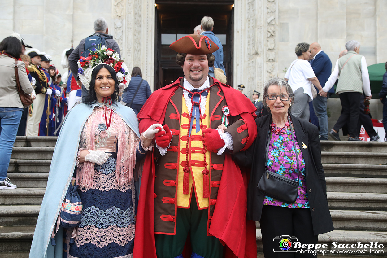
<path id="1" fill-rule="evenodd" d="M 268 0 L 235 0 L 234 85 L 244 84 L 246 88 L 243 93 L 249 97 L 253 89 L 262 90 L 265 77 L 264 6 L 266 1 Z"/>

